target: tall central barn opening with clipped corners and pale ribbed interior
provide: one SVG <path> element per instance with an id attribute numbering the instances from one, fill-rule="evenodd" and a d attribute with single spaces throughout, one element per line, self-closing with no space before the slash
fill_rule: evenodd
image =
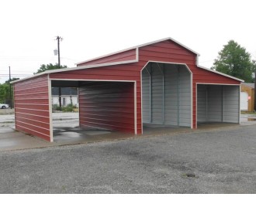
<path id="1" fill-rule="evenodd" d="M 188 67 L 150 62 L 141 75 L 144 131 L 192 127 L 192 73 Z"/>

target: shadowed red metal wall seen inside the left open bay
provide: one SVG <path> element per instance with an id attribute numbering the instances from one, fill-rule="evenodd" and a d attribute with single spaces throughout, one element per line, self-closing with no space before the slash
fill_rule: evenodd
<path id="1" fill-rule="evenodd" d="M 79 107 L 81 127 L 134 133 L 134 83 L 83 82 Z"/>

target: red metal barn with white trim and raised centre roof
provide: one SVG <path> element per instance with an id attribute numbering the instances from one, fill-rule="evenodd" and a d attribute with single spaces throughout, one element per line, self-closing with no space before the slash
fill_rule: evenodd
<path id="1" fill-rule="evenodd" d="M 198 66 L 198 56 L 168 38 L 18 80 L 16 130 L 54 140 L 51 87 L 79 87 L 81 127 L 143 134 L 143 124 L 240 123 L 242 80 Z"/>

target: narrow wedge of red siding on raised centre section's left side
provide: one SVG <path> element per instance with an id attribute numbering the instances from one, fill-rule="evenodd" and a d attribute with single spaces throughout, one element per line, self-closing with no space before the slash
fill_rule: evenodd
<path id="1" fill-rule="evenodd" d="M 100 63 L 115 63 L 136 59 L 136 49 L 131 49 L 111 56 L 105 56 L 99 59 L 89 60 L 85 63 L 79 63 L 78 66 L 95 65 Z"/>

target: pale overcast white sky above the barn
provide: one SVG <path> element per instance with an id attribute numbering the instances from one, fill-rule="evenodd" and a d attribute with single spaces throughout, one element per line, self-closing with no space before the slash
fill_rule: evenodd
<path id="1" fill-rule="evenodd" d="M 210 68 L 230 39 L 256 59 L 254 0 L 0 0 L 0 83 L 171 37 Z"/>

